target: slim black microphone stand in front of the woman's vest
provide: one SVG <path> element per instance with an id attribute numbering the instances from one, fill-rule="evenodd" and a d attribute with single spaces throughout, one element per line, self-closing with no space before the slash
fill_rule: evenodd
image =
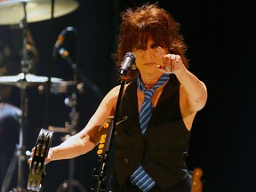
<path id="1" fill-rule="evenodd" d="M 109 148 L 112 144 L 112 138 L 114 135 L 114 132 L 116 130 L 116 124 L 117 124 L 117 114 L 120 106 L 120 101 L 122 99 L 122 95 L 124 92 L 124 84 L 126 84 L 126 81 L 124 78 L 121 78 L 121 85 L 120 85 L 120 91 L 118 93 L 118 97 L 116 100 L 116 112 L 115 116 L 113 118 L 113 121 L 109 124 L 106 142 L 104 144 L 102 155 L 100 156 L 100 170 L 97 173 L 96 170 L 93 170 L 92 177 L 98 177 L 98 184 L 96 187 L 96 192 L 102 192 L 106 191 L 106 178 L 107 178 L 107 165 L 108 165 L 108 156 L 109 156 Z M 91 188 L 94 190 L 95 188 Z"/>

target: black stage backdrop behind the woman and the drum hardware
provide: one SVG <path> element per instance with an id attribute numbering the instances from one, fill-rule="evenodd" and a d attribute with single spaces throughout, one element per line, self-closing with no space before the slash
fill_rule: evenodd
<path id="1" fill-rule="evenodd" d="M 79 32 L 78 43 L 74 34 L 68 34 L 63 46 L 90 81 L 86 81 L 84 92 L 77 93 L 77 110 L 80 113 L 77 131 L 80 131 L 100 104 L 102 95 L 118 84 L 111 53 L 116 51 L 119 13 L 146 1 L 78 2 L 79 7 L 75 12 L 52 22 L 44 20 L 29 23 L 28 28 L 39 52 L 36 75 L 48 76 L 50 71 L 50 76 L 66 81 L 73 78 L 72 68 L 59 56 L 52 59 L 52 47 L 64 28 L 72 26 Z M 188 44 L 190 70 L 208 88 L 207 104 L 196 116 L 191 131 L 189 169 L 193 170 L 197 166 L 203 169 L 205 192 L 256 191 L 256 113 L 252 110 L 255 107 L 255 75 L 252 66 L 255 64 L 256 51 L 256 7 L 253 1 L 163 0 L 158 3 L 180 22 L 181 33 Z M 22 41 L 19 28 L 0 26 L 0 30 L 2 36 L 3 31 L 15 32 L 14 35 L 5 33 L 2 37 L 5 43 L 14 41 L 14 38 L 18 43 Z M 6 41 L 7 35 L 9 41 Z M 81 49 L 77 49 L 77 44 Z M 78 51 L 80 55 L 76 58 Z M 20 54 L 17 55 L 12 60 L 15 60 L 15 68 L 18 68 L 19 73 Z M 92 89 L 92 86 L 99 90 Z M 37 134 L 45 124 L 63 127 L 69 121 L 70 108 L 64 104 L 68 96 L 70 92 L 47 96 L 37 92 L 37 87 L 29 88 L 28 150 L 35 145 Z M 13 87 L 7 101 L 20 107 L 20 90 Z M 12 132 L 14 136 L 19 134 L 17 129 Z M 52 145 L 59 144 L 63 136 L 63 133 L 56 133 Z M 14 145 L 15 141 L 12 144 L 10 140 L 8 151 L 14 150 Z M 64 160 L 47 165 L 45 191 L 56 191 L 64 180 L 68 180 L 68 163 L 68 160 Z M 89 191 L 93 183 L 92 168 L 98 168 L 96 150 L 77 157 L 75 164 L 75 179 Z M 1 164 L 1 169 L 6 166 L 8 164 Z M 14 186 L 15 178 L 16 175 L 13 175 Z"/>

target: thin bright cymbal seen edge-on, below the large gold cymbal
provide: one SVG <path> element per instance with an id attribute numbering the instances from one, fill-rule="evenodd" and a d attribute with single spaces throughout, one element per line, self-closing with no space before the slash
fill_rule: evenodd
<path id="1" fill-rule="evenodd" d="M 35 76 L 33 74 L 27 74 L 26 76 L 23 73 L 20 73 L 17 76 L 0 76 L 0 84 L 5 85 L 16 85 L 20 88 L 24 86 L 32 86 L 36 84 L 45 84 L 48 82 L 47 76 Z M 57 83 L 61 82 L 62 79 L 51 77 L 51 82 Z"/>

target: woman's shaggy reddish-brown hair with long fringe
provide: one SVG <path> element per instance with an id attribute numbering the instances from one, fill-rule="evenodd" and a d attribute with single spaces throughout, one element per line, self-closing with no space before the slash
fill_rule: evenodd
<path id="1" fill-rule="evenodd" d="M 180 35 L 180 24 L 157 3 L 129 8 L 121 13 L 121 21 L 117 36 L 117 51 L 113 54 L 116 68 L 120 68 L 124 54 L 132 52 L 133 46 L 138 41 L 143 47 L 147 47 L 148 36 L 152 36 L 156 44 L 168 48 L 170 53 L 180 55 L 188 68 L 188 59 L 185 56 L 187 45 Z M 132 70 L 128 77 L 132 78 L 136 74 L 138 69 Z"/>

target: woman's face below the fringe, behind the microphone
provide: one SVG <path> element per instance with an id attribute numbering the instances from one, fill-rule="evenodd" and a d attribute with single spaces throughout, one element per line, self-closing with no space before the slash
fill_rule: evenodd
<path id="1" fill-rule="evenodd" d="M 136 57 L 136 66 L 140 70 L 140 74 L 163 74 L 157 69 L 157 65 L 163 65 L 163 58 L 165 54 L 168 54 L 167 48 L 162 48 L 159 44 L 156 44 L 151 36 L 148 36 L 147 47 L 135 44 L 132 48 L 132 52 Z"/>

